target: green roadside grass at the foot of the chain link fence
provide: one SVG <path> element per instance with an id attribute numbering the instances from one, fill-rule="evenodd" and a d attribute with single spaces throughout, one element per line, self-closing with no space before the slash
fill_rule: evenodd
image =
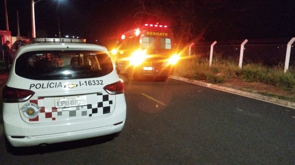
<path id="1" fill-rule="evenodd" d="M 174 74 L 179 77 L 211 84 L 224 83 L 229 79 L 237 78 L 245 82 L 259 82 L 272 85 L 286 91 L 286 93 L 295 94 L 295 71 L 290 69 L 285 73 L 282 66 L 267 67 L 260 64 L 247 64 L 240 69 L 235 61 L 225 60 L 214 61 L 214 65 L 209 66 L 209 60 L 192 56 L 192 58 L 180 60 Z M 276 97 L 284 100 L 295 100 L 295 98 L 284 96 Z"/>

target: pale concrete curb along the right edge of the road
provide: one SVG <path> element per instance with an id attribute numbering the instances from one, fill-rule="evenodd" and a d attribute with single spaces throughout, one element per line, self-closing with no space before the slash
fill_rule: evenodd
<path id="1" fill-rule="evenodd" d="M 272 104 L 276 104 L 276 105 L 280 105 L 280 106 L 295 109 L 295 102 L 285 101 L 285 100 L 281 100 L 281 99 L 277 99 L 277 98 L 273 98 L 273 97 L 268 97 L 268 96 L 260 95 L 260 94 L 252 94 L 252 93 L 248 93 L 248 92 L 244 92 L 244 91 L 235 90 L 235 89 L 232 89 L 232 88 L 227 88 L 227 87 L 222 87 L 222 86 L 218 86 L 218 85 L 214 85 L 214 84 L 205 83 L 205 82 L 202 82 L 202 81 L 191 80 L 191 79 L 188 79 L 188 78 L 182 78 L 182 77 L 178 77 L 178 76 L 175 76 L 175 75 L 170 75 L 169 77 L 173 78 L 173 79 L 185 81 L 185 82 L 188 82 L 188 83 L 197 84 L 197 85 L 201 85 L 201 86 L 204 86 L 204 87 L 216 89 L 216 90 L 219 90 L 219 91 L 224 91 L 224 92 L 228 92 L 228 93 L 232 93 L 232 94 L 238 94 L 238 95 L 241 95 L 241 96 L 250 97 L 250 98 L 265 101 L 265 102 L 268 102 L 268 103 L 272 103 Z"/>

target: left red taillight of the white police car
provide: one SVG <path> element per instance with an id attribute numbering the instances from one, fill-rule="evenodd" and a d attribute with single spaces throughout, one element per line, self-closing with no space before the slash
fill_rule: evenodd
<path id="1" fill-rule="evenodd" d="M 33 91 L 11 88 L 5 85 L 2 91 L 2 100 L 7 103 L 23 102 L 34 94 Z"/>

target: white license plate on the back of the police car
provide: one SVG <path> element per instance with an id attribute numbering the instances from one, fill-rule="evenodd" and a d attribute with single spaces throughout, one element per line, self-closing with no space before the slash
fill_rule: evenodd
<path id="1" fill-rule="evenodd" d="M 74 106 L 83 106 L 83 105 L 87 105 L 86 95 L 55 98 L 56 108 L 74 107 Z"/>

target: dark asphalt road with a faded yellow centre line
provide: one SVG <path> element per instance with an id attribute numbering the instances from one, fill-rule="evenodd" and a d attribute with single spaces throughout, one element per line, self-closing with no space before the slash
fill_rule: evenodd
<path id="1" fill-rule="evenodd" d="M 124 79 L 124 77 L 122 77 Z M 127 119 L 114 140 L 7 153 L 1 165 L 293 165 L 294 110 L 192 83 L 125 82 Z M 2 136 L 1 136 L 2 137 Z"/>

